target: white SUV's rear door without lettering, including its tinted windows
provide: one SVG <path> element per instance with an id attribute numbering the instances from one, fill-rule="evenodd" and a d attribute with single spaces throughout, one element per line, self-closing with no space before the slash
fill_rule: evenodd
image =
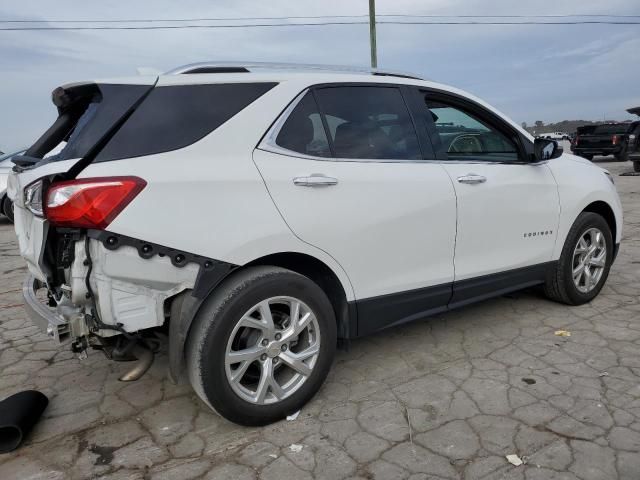
<path id="1" fill-rule="evenodd" d="M 450 298 L 455 193 L 424 148 L 400 88 L 367 84 L 303 92 L 254 152 L 293 232 L 349 275 L 359 335 Z"/>

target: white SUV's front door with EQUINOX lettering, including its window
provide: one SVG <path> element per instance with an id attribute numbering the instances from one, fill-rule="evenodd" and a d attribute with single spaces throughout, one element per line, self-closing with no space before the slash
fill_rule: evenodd
<path id="1" fill-rule="evenodd" d="M 517 132 L 459 96 L 416 102 L 458 199 L 452 304 L 544 278 L 560 207 L 546 162 L 530 163 Z"/>

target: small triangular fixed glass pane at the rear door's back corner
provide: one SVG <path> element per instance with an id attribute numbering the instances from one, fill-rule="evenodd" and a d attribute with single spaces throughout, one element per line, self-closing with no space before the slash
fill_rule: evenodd
<path id="1" fill-rule="evenodd" d="M 305 155 L 331 156 L 327 134 L 311 92 L 300 100 L 284 122 L 276 144 Z"/>

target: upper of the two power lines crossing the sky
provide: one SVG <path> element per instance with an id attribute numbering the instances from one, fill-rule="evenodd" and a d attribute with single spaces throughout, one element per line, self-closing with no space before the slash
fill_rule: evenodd
<path id="1" fill-rule="evenodd" d="M 308 15 L 286 17 L 218 17 L 218 18 L 140 18 L 140 19 L 111 19 L 111 20 L 0 20 L 0 23 L 173 23 L 173 22 L 224 22 L 224 21 L 261 21 L 261 20 L 307 20 L 322 18 L 365 18 L 362 15 Z M 613 14 L 548 14 L 548 15 L 423 15 L 406 13 L 377 14 L 376 17 L 386 18 L 640 18 L 640 15 Z"/>

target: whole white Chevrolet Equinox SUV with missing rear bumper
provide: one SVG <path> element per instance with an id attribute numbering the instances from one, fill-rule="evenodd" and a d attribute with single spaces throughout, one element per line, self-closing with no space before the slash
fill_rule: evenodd
<path id="1" fill-rule="evenodd" d="M 33 321 L 127 379 L 165 328 L 172 378 L 242 424 L 300 409 L 339 340 L 533 285 L 588 302 L 621 238 L 606 171 L 418 78 L 197 64 L 53 101 L 9 182 Z"/>

